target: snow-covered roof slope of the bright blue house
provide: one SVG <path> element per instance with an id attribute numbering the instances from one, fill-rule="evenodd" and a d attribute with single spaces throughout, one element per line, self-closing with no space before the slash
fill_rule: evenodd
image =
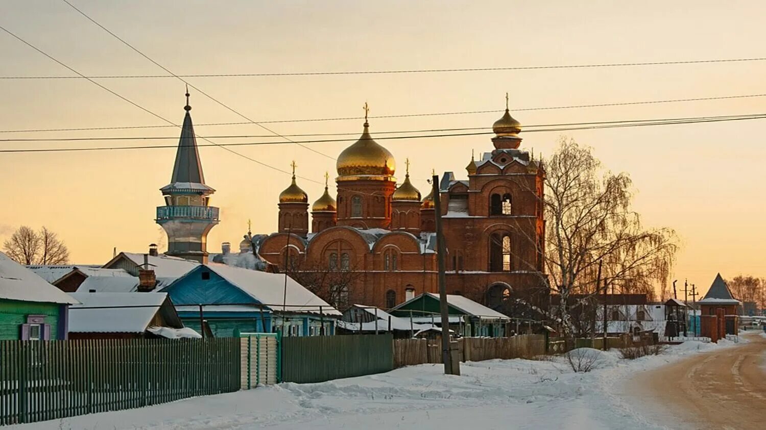
<path id="1" fill-rule="evenodd" d="M 319 306 L 322 306 L 322 313 L 340 315 L 341 313 L 329 305 L 326 301 L 319 298 L 306 287 L 300 285 L 290 276 L 279 273 L 259 272 L 257 270 L 241 269 L 218 263 L 208 263 L 208 269 L 231 282 L 237 288 L 250 295 L 250 297 L 260 301 L 274 311 L 280 311 L 280 303 L 286 303 L 284 308 L 287 312 L 313 312 L 319 313 Z M 287 278 L 285 293 L 285 277 Z M 286 295 L 286 296 L 285 296 Z"/>

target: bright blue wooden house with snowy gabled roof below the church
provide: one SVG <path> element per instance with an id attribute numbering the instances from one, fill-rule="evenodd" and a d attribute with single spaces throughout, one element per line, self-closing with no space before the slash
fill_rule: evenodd
<path id="1" fill-rule="evenodd" d="M 205 321 L 215 337 L 335 334 L 341 315 L 289 276 L 218 263 L 198 265 L 162 292 L 187 327 L 199 330 Z"/>

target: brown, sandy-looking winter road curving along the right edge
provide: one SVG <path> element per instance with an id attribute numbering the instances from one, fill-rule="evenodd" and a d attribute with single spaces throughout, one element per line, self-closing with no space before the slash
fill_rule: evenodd
<path id="1" fill-rule="evenodd" d="M 690 357 L 637 378 L 633 393 L 652 396 L 663 416 L 673 421 L 680 416 L 688 428 L 763 429 L 766 338 L 750 334 L 746 339 L 746 344 Z"/>

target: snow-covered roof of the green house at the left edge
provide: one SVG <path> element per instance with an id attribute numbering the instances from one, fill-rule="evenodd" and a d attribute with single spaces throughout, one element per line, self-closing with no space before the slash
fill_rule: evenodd
<path id="1" fill-rule="evenodd" d="M 77 300 L 0 252 L 0 298 L 74 304 Z"/>

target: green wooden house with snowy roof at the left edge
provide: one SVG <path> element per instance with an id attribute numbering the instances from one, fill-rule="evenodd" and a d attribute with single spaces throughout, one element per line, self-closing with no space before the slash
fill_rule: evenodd
<path id="1" fill-rule="evenodd" d="M 77 300 L 0 252 L 0 340 L 67 338 Z"/>

